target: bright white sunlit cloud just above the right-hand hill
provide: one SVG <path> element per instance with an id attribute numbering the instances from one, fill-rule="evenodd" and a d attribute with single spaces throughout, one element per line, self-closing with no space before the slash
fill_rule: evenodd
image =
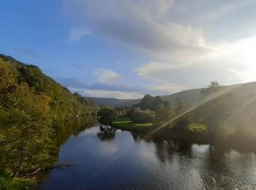
<path id="1" fill-rule="evenodd" d="M 135 69 L 140 77 L 158 86 L 177 84 L 187 88 L 206 86 L 211 80 L 223 85 L 256 80 L 256 36 L 212 45 L 208 56 L 193 64 L 173 65 L 171 62 L 149 62 Z M 183 90 L 183 89 L 182 89 Z"/>

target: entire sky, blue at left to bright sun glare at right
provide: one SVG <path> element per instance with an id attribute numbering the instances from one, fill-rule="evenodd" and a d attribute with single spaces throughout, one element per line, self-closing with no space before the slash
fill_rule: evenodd
<path id="1" fill-rule="evenodd" d="M 255 0 L 1 1 L 0 53 L 83 96 L 256 80 Z"/>

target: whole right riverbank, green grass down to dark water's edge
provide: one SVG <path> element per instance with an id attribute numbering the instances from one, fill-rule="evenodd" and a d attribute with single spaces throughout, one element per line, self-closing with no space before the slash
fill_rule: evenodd
<path id="1" fill-rule="evenodd" d="M 157 123 L 135 123 L 128 117 L 118 117 L 112 125 L 116 129 L 135 132 L 140 137 L 148 137 L 146 134 L 151 133 L 159 127 Z M 195 124 L 187 126 L 187 130 L 167 126 L 155 130 L 149 137 L 151 140 L 176 140 L 200 144 L 210 144 L 223 149 L 234 149 L 241 152 L 255 152 L 255 137 L 242 134 L 225 135 L 208 129 L 206 125 Z"/>

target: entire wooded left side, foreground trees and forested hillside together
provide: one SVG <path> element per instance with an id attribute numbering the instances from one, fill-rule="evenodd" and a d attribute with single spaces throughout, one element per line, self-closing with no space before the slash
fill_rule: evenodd
<path id="1" fill-rule="evenodd" d="M 96 108 L 37 66 L 0 55 L 0 174 L 21 177 L 53 164 L 58 123 L 95 115 Z"/>

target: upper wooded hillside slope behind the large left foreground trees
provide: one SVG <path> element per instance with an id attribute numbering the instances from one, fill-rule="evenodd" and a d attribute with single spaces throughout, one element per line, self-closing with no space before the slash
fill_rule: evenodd
<path id="1" fill-rule="evenodd" d="M 18 85 L 26 83 L 35 94 L 47 96 L 50 99 L 50 108 L 54 120 L 72 118 L 75 115 L 94 115 L 94 104 L 87 101 L 79 94 L 71 94 L 52 78 L 43 74 L 38 66 L 23 64 L 15 58 L 0 54 L 3 66 L 10 69 Z"/>

